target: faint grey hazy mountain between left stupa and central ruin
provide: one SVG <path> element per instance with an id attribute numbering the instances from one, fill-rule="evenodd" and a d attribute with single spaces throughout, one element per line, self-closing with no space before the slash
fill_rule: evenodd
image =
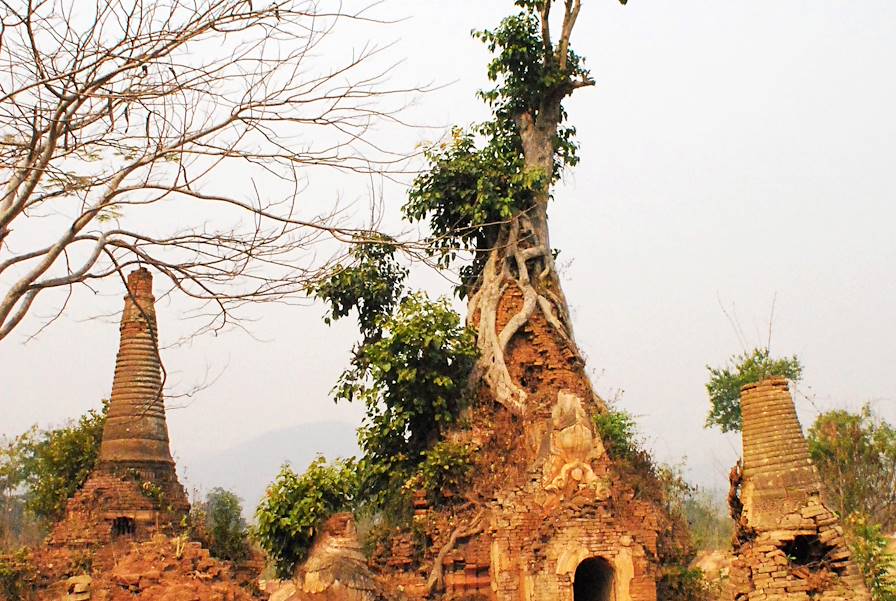
<path id="1" fill-rule="evenodd" d="M 268 432 L 229 449 L 179 463 L 188 492 L 192 493 L 193 488 L 208 492 L 216 486 L 231 490 L 243 499 L 249 517 L 284 463 L 302 472 L 317 455 L 333 459 L 357 452 L 354 425 L 323 422 Z"/>

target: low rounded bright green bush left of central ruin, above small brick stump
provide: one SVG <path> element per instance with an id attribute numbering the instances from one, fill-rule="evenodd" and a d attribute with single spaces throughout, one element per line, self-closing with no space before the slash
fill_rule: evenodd
<path id="1" fill-rule="evenodd" d="M 351 508 L 356 486 L 353 461 L 328 465 L 319 457 L 304 474 L 284 465 L 255 512 L 255 539 L 277 576 L 289 578 L 308 554 L 321 525 Z"/>

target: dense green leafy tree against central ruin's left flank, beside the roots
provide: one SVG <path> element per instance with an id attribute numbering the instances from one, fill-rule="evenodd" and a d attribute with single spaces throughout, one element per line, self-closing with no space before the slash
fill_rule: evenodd
<path id="1" fill-rule="evenodd" d="M 358 351 L 335 388 L 337 401 L 366 407 L 358 442 L 373 505 L 401 487 L 455 422 L 476 357 L 472 332 L 445 299 L 410 294 L 379 325 L 379 338 Z"/>

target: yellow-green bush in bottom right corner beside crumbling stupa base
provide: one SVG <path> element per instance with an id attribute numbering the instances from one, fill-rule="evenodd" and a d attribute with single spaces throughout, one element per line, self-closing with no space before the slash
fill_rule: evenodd
<path id="1" fill-rule="evenodd" d="M 871 591 L 873 601 L 896 601 L 896 555 L 887 551 L 888 540 L 881 527 L 867 516 L 854 514 L 847 520 L 849 546 Z"/>

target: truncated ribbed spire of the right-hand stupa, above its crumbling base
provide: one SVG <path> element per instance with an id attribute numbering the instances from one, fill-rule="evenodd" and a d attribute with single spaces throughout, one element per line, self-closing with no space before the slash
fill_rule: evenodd
<path id="1" fill-rule="evenodd" d="M 749 524 L 771 529 L 819 494 L 821 482 L 790 396 L 787 380 L 767 379 L 741 391 L 744 487 Z"/>

